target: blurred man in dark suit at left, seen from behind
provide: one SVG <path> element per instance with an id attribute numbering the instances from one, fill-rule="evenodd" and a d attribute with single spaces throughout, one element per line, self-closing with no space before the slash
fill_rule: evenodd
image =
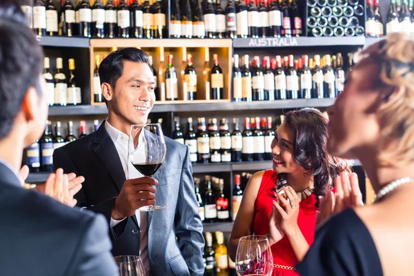
<path id="1" fill-rule="evenodd" d="M 23 20 L 0 3 L 0 275 L 117 275 L 103 216 L 21 186 L 23 148 L 48 117 L 43 50 Z"/>

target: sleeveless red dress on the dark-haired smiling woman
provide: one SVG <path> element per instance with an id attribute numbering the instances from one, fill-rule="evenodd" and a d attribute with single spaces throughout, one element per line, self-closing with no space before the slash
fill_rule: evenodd
<path id="1" fill-rule="evenodd" d="M 276 172 L 273 170 L 266 170 L 264 172 L 259 193 L 257 193 L 255 201 L 255 217 L 253 222 L 255 235 L 267 235 L 269 233 L 269 218 L 272 213 L 273 200 L 275 200 L 275 197 L 272 195 L 275 195 L 273 189 L 275 188 L 276 181 Z M 315 235 L 317 210 L 315 203 L 316 197 L 314 194 L 311 194 L 305 200 L 301 201 L 299 204 L 299 216 L 297 217 L 297 224 L 309 245 L 313 243 L 313 237 Z M 292 267 L 297 264 L 297 257 L 286 235 L 277 244 L 274 244 L 271 249 L 273 264 Z M 273 268 L 273 276 L 277 275 L 296 276 L 298 274 L 294 270 Z"/>

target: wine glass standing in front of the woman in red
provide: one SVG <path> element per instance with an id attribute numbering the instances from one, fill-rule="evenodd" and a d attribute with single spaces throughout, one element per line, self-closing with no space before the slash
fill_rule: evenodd
<path id="1" fill-rule="evenodd" d="M 246 236 L 239 239 L 236 252 L 237 275 L 271 276 L 273 256 L 268 238 L 265 236 Z"/>

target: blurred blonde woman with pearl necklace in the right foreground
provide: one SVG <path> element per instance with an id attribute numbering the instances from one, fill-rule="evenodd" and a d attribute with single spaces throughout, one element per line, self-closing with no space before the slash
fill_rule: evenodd
<path id="1" fill-rule="evenodd" d="M 377 199 L 319 228 L 297 266 L 300 275 L 413 274 L 414 37 L 388 34 L 358 56 L 344 92 L 328 108 L 328 151 L 359 159 Z M 352 205 L 343 199 L 355 186 L 343 186 L 342 195 L 328 194 L 328 209 Z"/>

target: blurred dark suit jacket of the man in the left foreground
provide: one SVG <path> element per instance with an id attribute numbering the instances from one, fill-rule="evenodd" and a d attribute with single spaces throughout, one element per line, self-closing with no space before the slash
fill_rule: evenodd
<path id="1" fill-rule="evenodd" d="M 0 275 L 117 275 L 101 215 L 21 188 L 0 163 Z"/>

